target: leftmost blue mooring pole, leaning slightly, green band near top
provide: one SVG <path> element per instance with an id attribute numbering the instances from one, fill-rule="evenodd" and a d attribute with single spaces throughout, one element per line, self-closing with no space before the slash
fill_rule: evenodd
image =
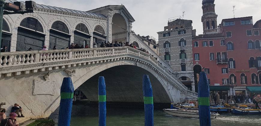
<path id="1" fill-rule="evenodd" d="M 70 77 L 64 77 L 61 84 L 61 102 L 58 116 L 58 126 L 70 126 L 73 105 L 73 82 Z"/>

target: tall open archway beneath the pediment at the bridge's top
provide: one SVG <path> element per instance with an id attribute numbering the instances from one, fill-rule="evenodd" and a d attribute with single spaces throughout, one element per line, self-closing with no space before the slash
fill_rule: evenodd
<path id="1" fill-rule="evenodd" d="M 125 18 L 115 13 L 112 19 L 112 42 L 127 42 L 128 27 Z"/>

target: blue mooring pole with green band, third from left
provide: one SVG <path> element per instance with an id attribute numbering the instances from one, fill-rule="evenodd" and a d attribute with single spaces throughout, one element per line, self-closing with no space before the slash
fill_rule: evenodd
<path id="1" fill-rule="evenodd" d="M 143 75 L 143 99 L 145 110 L 145 126 L 153 126 L 153 95 L 148 75 Z"/>

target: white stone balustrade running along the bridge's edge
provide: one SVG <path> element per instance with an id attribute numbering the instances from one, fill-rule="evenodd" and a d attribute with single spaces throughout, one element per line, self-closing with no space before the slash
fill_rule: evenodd
<path id="1" fill-rule="evenodd" d="M 153 56 L 132 47 L 109 47 L 109 48 L 85 48 L 85 49 L 64 49 L 64 50 L 39 50 L 39 51 L 21 51 L 5 52 L 0 56 L 0 69 L 4 67 L 24 66 L 30 64 L 49 63 L 66 61 L 71 59 L 98 58 L 104 56 L 117 56 L 122 54 L 132 54 L 140 56 L 151 61 L 154 65 L 166 73 L 172 81 L 188 93 L 187 87 L 179 82 L 172 73 L 165 69 Z M 3 73 L 1 71 L 1 73 Z M 1 74 L 0 73 L 0 74 Z"/>

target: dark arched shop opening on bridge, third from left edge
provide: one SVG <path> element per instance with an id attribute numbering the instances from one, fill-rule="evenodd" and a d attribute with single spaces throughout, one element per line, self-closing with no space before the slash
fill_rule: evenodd
<path id="1" fill-rule="evenodd" d="M 52 24 L 49 36 L 49 50 L 56 46 L 57 49 L 66 49 L 70 45 L 69 29 L 62 21 Z"/>

